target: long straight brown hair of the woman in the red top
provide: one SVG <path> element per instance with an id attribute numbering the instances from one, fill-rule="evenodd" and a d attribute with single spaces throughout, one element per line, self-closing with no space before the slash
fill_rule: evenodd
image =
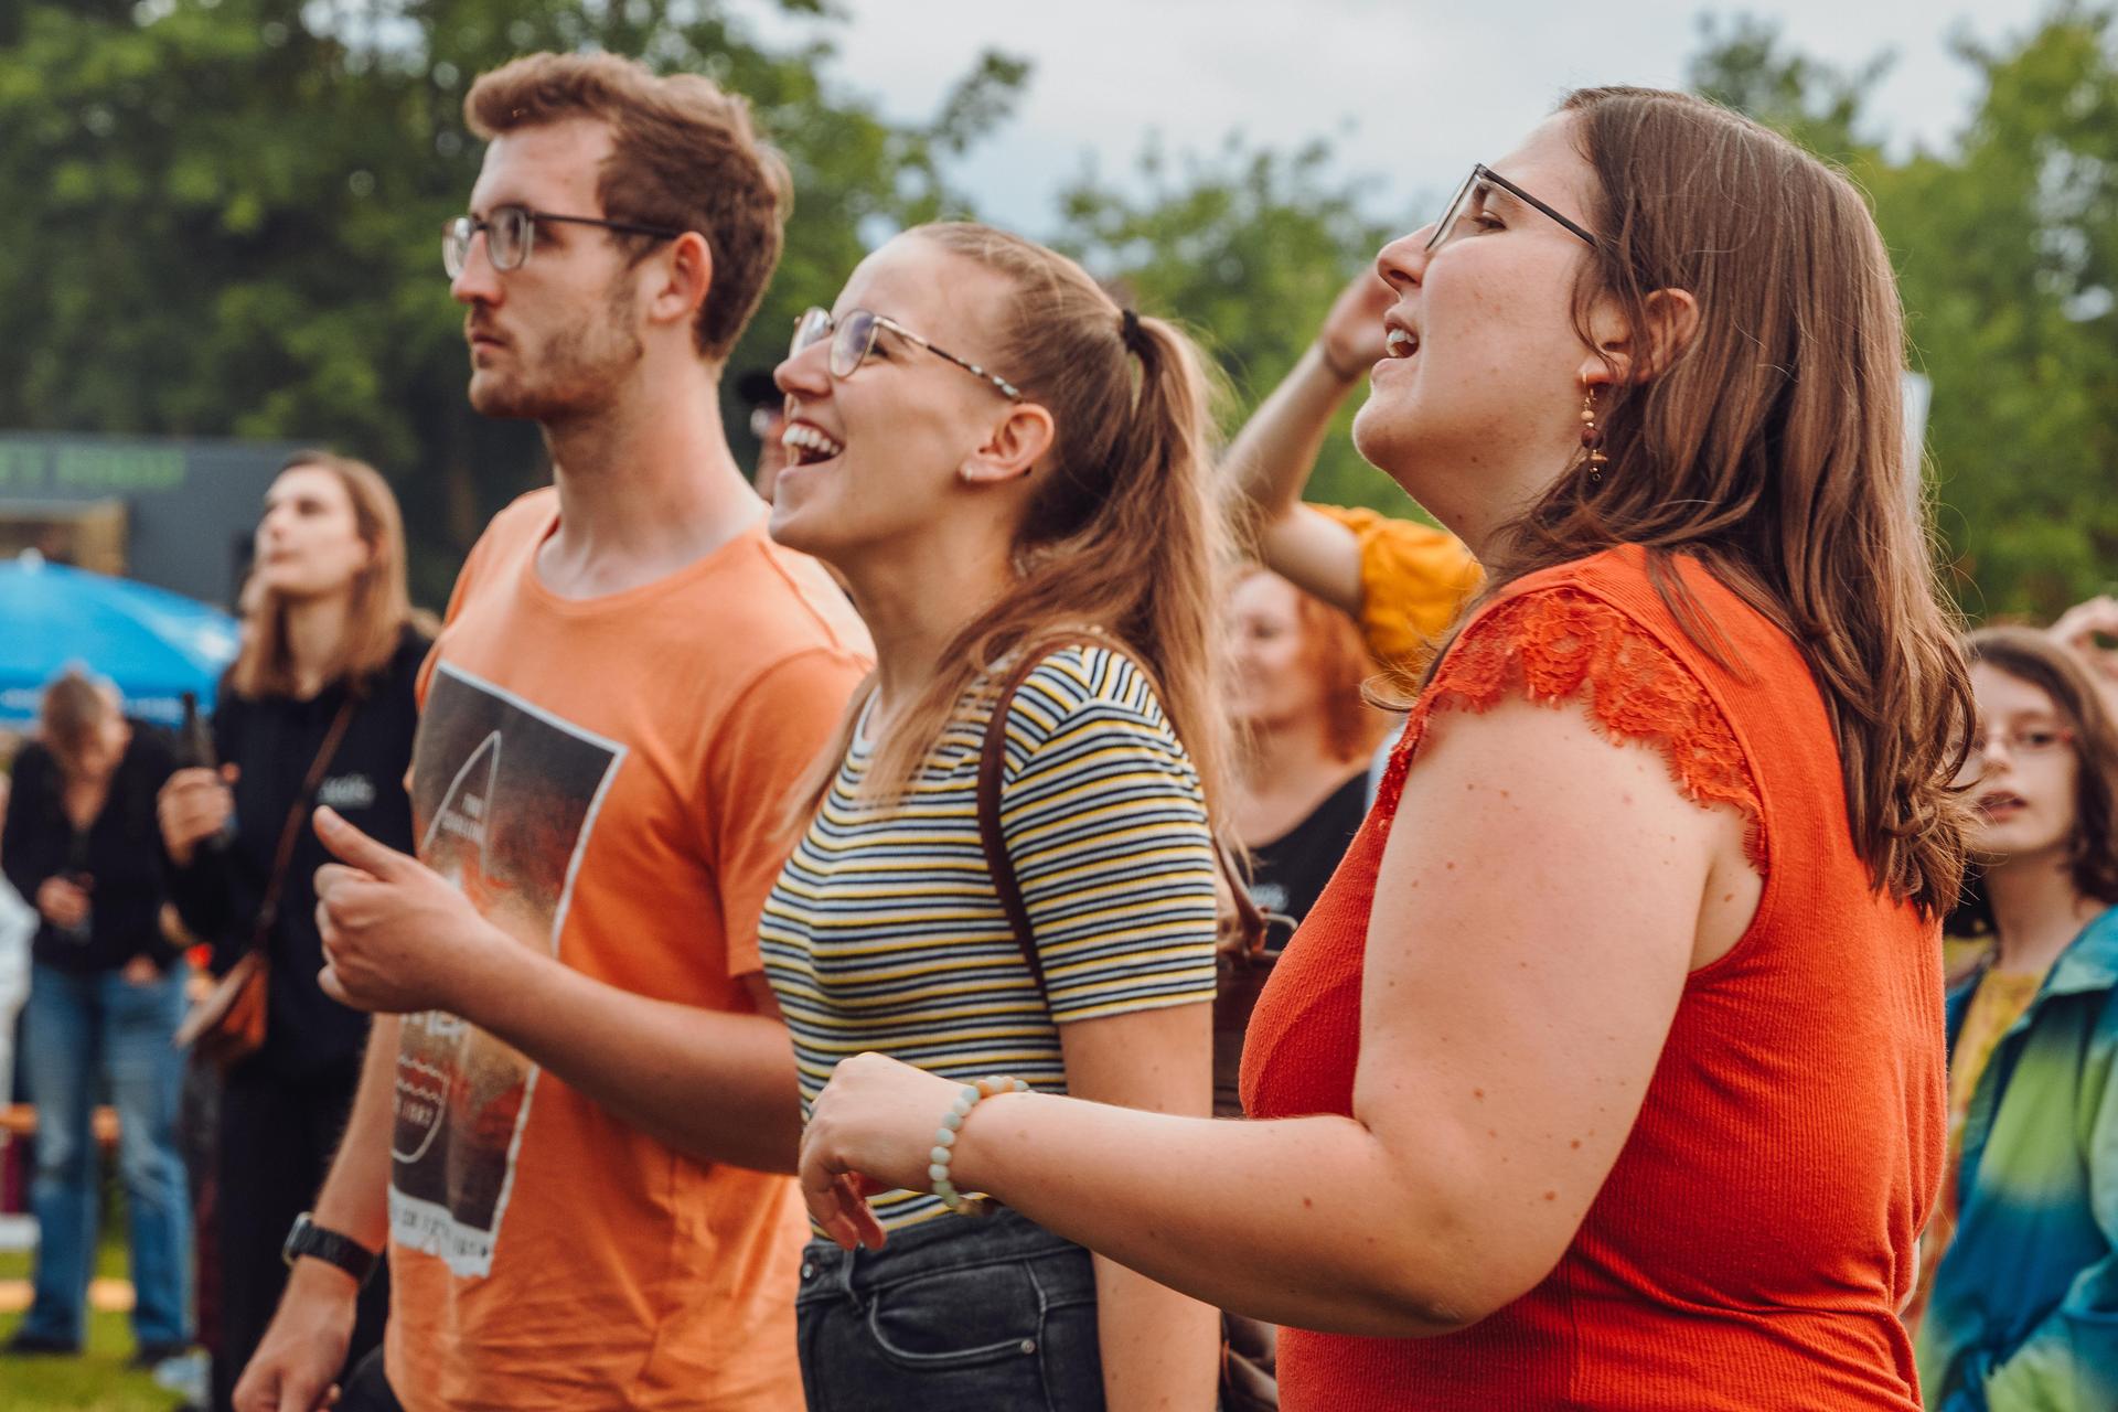
<path id="1" fill-rule="evenodd" d="M 1726 663 L 1671 572 L 1699 559 L 1809 660 L 1877 889 L 1940 915 L 1963 874 L 1972 696 L 1904 447 L 1904 318 L 1874 218 L 1841 171 L 1703 99 L 1582 89 L 1561 112 L 1599 186 L 1582 341 L 1603 298 L 1652 328 L 1656 290 L 1688 290 L 1699 326 L 1605 390 L 1605 474 L 1561 476 L 1497 536 L 1478 601 L 1641 544 L 1677 622 Z"/>

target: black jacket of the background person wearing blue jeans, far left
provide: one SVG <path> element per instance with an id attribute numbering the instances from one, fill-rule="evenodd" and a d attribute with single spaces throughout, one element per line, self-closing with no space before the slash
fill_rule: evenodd
<path id="1" fill-rule="evenodd" d="M 155 726 L 133 722 L 131 745 L 110 777 L 104 811 L 74 838 L 66 817 L 59 762 L 42 745 L 15 756 L 15 790 L 0 836 L 0 862 L 23 902 L 55 874 L 87 874 L 89 936 L 74 940 L 38 917 L 32 955 L 61 972 L 112 972 L 138 955 L 167 967 L 176 946 L 161 934 L 161 826 L 155 796 L 176 768 L 174 743 Z"/>

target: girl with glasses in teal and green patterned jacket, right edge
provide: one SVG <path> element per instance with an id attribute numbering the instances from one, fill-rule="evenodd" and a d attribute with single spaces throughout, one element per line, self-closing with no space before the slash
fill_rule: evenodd
<path id="1" fill-rule="evenodd" d="M 1925 1236 L 1919 1378 L 1940 1412 L 2118 1408 L 2118 728 L 2027 629 L 1972 635 L 1982 902 L 1949 997 L 1951 1175 Z"/>

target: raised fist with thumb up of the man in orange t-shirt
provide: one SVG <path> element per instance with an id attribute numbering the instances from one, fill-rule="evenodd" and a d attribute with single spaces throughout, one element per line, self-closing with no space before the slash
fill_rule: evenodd
<path id="1" fill-rule="evenodd" d="M 316 836 L 345 859 L 316 870 L 324 995 L 385 1014 L 464 1014 L 464 999 L 489 974 L 485 957 L 515 942 L 438 872 L 335 811 L 316 811 Z"/>

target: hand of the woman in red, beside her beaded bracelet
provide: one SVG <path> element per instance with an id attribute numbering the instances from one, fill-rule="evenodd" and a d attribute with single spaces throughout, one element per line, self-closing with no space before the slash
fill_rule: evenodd
<path id="1" fill-rule="evenodd" d="M 824 1234 L 881 1249 L 868 1194 L 934 1190 L 934 1133 L 959 1088 L 883 1054 L 839 1061 L 801 1139 L 801 1194 Z"/>

